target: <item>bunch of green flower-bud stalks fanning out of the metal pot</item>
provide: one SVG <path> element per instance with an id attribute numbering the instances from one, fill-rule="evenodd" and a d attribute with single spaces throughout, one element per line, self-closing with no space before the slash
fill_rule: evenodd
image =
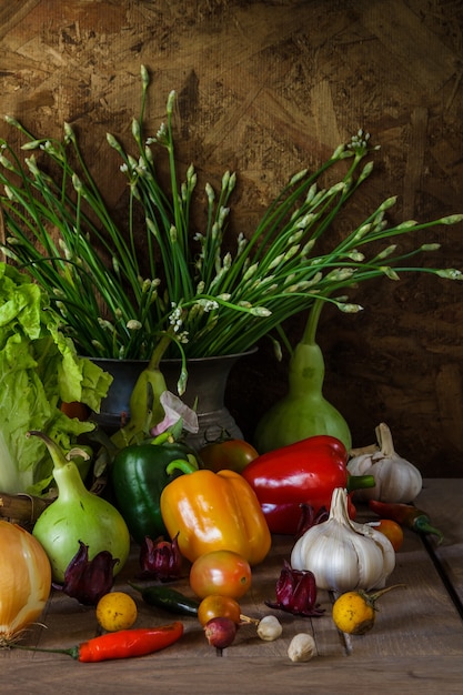
<path id="1" fill-rule="evenodd" d="M 133 152 L 114 135 L 107 137 L 129 187 L 123 223 L 108 208 L 69 123 L 58 141 L 37 138 L 8 117 L 27 140 L 24 163 L 0 141 L 2 251 L 47 290 L 82 354 L 148 359 L 165 333 L 187 357 L 238 353 L 264 335 L 286 343 L 282 322 L 310 310 L 315 300 L 345 312 L 359 310 L 346 301 L 345 290 L 372 278 L 426 272 L 462 279 L 459 270 L 411 265 L 410 259 L 439 246 L 429 242 L 430 230 L 460 222 L 463 215 L 390 226 L 385 215 L 394 198 L 331 251 L 319 251 L 321 238 L 325 249 L 333 221 L 373 170 L 371 155 L 378 148 L 370 147 L 362 131 L 316 171 L 292 177 L 255 229 L 239 234 L 233 250 L 225 251 L 235 174 L 223 174 L 219 192 L 205 184 L 205 222 L 195 228 L 197 173 L 190 165 L 182 180 L 177 169 L 175 92 L 169 95 L 165 122 L 155 135 L 145 137 L 150 79 L 144 67 L 141 82 L 140 115 L 131 128 Z M 163 185 L 158 169 L 165 157 L 170 178 Z M 338 183 L 323 188 L 323 174 L 340 162 L 348 162 L 342 168 L 346 171 Z M 144 240 L 135 229 L 140 209 Z M 411 231 L 423 232 L 425 243 L 401 254 L 392 240 Z"/>

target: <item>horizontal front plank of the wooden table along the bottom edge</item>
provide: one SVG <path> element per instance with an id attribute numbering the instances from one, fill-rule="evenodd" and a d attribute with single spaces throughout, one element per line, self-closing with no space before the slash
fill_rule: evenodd
<path id="1" fill-rule="evenodd" d="M 461 695 L 462 661 L 402 656 L 389 659 L 328 657 L 306 664 L 273 661 L 265 656 L 245 659 L 182 659 L 172 664 L 160 655 L 137 664 L 62 664 L 48 661 L 1 664 L 8 695 L 60 695 L 111 693 L 140 695 L 192 693 L 201 695 Z M 33 688 L 33 689 L 32 689 Z"/>

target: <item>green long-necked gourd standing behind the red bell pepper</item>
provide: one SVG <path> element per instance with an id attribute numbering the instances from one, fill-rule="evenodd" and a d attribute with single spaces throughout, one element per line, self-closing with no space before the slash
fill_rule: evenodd
<path id="1" fill-rule="evenodd" d="M 323 396 L 324 360 L 315 331 L 324 300 L 316 300 L 304 334 L 289 364 L 289 390 L 260 420 L 254 445 L 260 454 L 293 444 L 309 436 L 335 436 L 349 451 L 352 437 L 341 413 Z"/>

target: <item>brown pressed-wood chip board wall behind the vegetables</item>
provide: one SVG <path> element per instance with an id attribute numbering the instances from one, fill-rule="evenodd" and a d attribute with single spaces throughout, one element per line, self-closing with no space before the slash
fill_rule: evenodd
<path id="1" fill-rule="evenodd" d="M 179 93 L 179 160 L 213 184 L 225 169 L 238 172 L 234 232 L 252 229 L 292 173 L 359 128 L 382 150 L 341 232 L 391 194 L 395 221 L 463 211 L 459 0 L 2 0 L 0 40 L 0 110 L 38 134 L 71 122 L 121 213 L 125 184 L 105 132 L 129 141 L 141 63 L 155 84 L 154 132 L 168 93 Z M 4 123 L 0 134 L 14 137 Z M 435 264 L 463 269 L 462 233 L 436 233 Z M 371 444 L 385 421 L 423 474 L 463 474 L 462 292 L 462 283 L 409 275 L 362 286 L 352 295 L 360 314 L 324 310 L 325 396 L 355 446 Z M 289 326 L 293 342 L 304 319 Z M 245 436 L 285 392 L 286 366 L 288 355 L 276 363 L 263 343 L 233 371 L 228 403 Z"/>

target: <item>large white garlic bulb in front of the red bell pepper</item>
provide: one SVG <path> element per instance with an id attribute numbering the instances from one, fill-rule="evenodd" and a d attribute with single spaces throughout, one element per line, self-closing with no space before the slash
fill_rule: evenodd
<path id="1" fill-rule="evenodd" d="M 349 517 L 348 493 L 336 487 L 328 521 L 296 541 L 291 566 L 313 572 L 319 588 L 369 591 L 385 585 L 395 567 L 395 552 L 383 533 Z"/>

